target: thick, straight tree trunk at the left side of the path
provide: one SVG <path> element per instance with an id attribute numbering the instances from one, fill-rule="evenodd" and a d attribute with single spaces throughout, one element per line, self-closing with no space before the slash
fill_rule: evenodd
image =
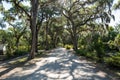
<path id="1" fill-rule="evenodd" d="M 37 10 L 38 10 L 38 0 L 31 0 L 31 33 L 32 33 L 32 44 L 29 59 L 35 57 L 36 50 L 36 21 L 37 21 Z"/>

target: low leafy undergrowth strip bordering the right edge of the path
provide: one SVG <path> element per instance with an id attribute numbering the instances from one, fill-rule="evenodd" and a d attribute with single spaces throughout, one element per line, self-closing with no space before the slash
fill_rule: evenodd
<path id="1" fill-rule="evenodd" d="M 101 70 L 105 70 L 108 74 L 112 73 L 117 79 L 120 79 L 120 53 L 109 57 L 103 57 L 101 59 L 102 62 L 99 62 L 99 58 L 95 52 L 78 50 L 76 51 L 76 55 L 92 61 L 98 65 Z"/>

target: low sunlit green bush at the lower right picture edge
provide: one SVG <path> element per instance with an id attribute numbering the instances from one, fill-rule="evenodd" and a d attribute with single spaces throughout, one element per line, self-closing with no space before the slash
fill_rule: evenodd
<path id="1" fill-rule="evenodd" d="M 109 58 L 105 58 L 105 62 L 111 67 L 120 68 L 120 53 L 117 53 L 117 55 L 111 56 Z"/>

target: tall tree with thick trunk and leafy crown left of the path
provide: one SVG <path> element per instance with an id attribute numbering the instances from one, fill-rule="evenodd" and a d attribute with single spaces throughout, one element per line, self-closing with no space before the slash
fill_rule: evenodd
<path id="1" fill-rule="evenodd" d="M 25 6 L 23 0 L 3 0 L 12 4 L 12 8 L 8 10 L 10 13 L 10 19 L 14 20 L 14 16 L 19 18 L 24 18 L 26 21 L 29 21 L 29 26 L 31 29 L 32 43 L 31 43 L 31 52 L 29 58 L 33 58 L 35 52 L 37 52 L 37 43 L 38 43 L 38 31 L 42 22 L 44 20 L 45 12 L 44 6 L 49 5 L 52 1 L 47 0 L 26 0 L 30 3 L 30 6 Z M 39 11 L 38 11 L 39 9 Z M 21 14 L 22 13 L 22 14 Z M 48 14 L 48 13 L 47 13 Z"/>

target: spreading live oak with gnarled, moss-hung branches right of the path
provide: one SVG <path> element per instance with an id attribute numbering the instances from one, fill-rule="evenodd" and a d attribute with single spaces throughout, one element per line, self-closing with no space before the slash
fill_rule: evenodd
<path id="1" fill-rule="evenodd" d="M 62 14 L 67 18 L 67 28 L 71 34 L 74 50 L 78 49 L 79 28 L 90 21 L 101 19 L 104 24 L 110 22 L 113 0 L 65 0 L 60 4 Z"/>

